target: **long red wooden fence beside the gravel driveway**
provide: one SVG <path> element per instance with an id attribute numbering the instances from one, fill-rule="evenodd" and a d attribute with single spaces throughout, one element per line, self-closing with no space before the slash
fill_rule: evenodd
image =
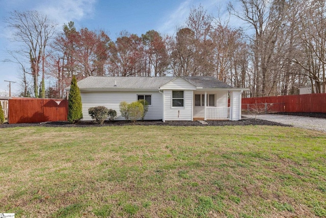
<path id="1" fill-rule="evenodd" d="M 242 99 L 242 109 L 248 104 L 268 103 L 273 112 L 321 112 L 326 113 L 326 93 L 271 96 Z"/>

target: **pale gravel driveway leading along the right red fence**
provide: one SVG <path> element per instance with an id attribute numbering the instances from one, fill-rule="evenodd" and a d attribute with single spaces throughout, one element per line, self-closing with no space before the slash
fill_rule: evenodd
<path id="1" fill-rule="evenodd" d="M 255 115 L 243 115 L 247 118 L 255 118 Z M 279 114 L 258 114 L 257 119 L 291 125 L 293 127 L 317 130 L 326 133 L 326 119 L 307 116 L 291 116 Z"/>

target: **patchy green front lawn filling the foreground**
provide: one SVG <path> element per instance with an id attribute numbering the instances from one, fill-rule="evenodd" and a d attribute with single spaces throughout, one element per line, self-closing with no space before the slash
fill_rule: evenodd
<path id="1" fill-rule="evenodd" d="M 289 127 L 0 129 L 0 212 L 325 217 L 325 145 Z"/>

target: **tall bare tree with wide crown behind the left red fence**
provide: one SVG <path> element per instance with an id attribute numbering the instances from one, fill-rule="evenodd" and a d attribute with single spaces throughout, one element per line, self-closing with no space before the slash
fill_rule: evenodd
<path id="1" fill-rule="evenodd" d="M 56 31 L 56 24 L 50 21 L 46 15 L 37 11 L 18 12 L 13 11 L 6 20 L 8 27 L 14 30 L 13 40 L 20 42 L 24 47 L 22 53 L 30 60 L 31 71 L 34 77 L 34 95 L 39 97 L 38 82 L 42 72 L 41 97 L 45 97 L 45 55 L 48 41 Z"/>

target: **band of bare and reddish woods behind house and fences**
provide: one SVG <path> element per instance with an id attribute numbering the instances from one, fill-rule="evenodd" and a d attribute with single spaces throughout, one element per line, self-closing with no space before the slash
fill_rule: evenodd
<path id="1" fill-rule="evenodd" d="M 298 94 L 301 86 L 325 92 L 324 1 L 234 4 L 240 7 L 229 3 L 229 17 L 242 28 L 199 6 L 175 35 L 122 31 L 115 40 L 102 30 L 77 30 L 73 21 L 60 30 L 37 11 L 14 11 L 7 23 L 21 49 L 9 53 L 21 69 L 20 95 L 65 98 L 73 76 L 213 76 L 250 88 L 247 97 Z"/>

